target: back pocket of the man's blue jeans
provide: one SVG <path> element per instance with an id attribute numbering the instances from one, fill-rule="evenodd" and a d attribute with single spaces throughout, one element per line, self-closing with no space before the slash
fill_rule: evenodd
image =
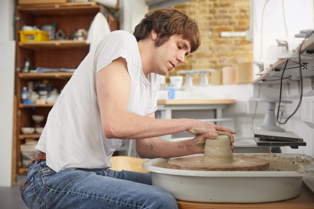
<path id="1" fill-rule="evenodd" d="M 45 202 L 35 193 L 34 178 L 26 183 L 20 191 L 22 200 L 28 208 L 46 208 Z"/>

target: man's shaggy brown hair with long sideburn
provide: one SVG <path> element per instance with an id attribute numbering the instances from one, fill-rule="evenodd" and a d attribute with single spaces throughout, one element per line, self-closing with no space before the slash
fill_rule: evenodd
<path id="1" fill-rule="evenodd" d="M 175 8 L 159 8 L 145 14 L 145 18 L 135 27 L 133 35 L 136 40 L 146 39 L 154 30 L 158 34 L 155 46 L 161 46 L 173 34 L 181 35 L 191 44 L 194 52 L 201 44 L 201 32 L 195 19 Z"/>

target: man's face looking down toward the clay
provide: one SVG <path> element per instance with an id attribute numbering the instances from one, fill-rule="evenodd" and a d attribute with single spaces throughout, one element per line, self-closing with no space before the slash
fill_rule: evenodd
<path id="1" fill-rule="evenodd" d="M 159 75 L 166 75 L 178 63 L 184 62 L 184 57 L 189 54 L 191 46 L 188 40 L 179 35 L 172 35 L 168 41 L 154 49 L 153 71 Z"/>

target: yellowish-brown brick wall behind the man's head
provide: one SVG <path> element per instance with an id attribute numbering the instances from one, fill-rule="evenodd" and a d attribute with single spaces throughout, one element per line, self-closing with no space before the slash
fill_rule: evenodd
<path id="1" fill-rule="evenodd" d="M 237 66 L 239 63 L 253 61 L 253 45 L 245 37 L 220 37 L 222 31 L 246 31 L 250 25 L 250 0 L 194 0 L 173 6 L 194 18 L 201 31 L 202 43 L 199 49 L 186 56 L 167 75 L 178 75 L 179 70 L 213 68 L 221 73 L 224 66 Z M 218 74 L 217 74 L 218 73 Z M 221 74 L 220 74 L 221 76 Z M 193 83 L 198 84 L 200 75 L 195 74 Z M 210 75 L 208 75 L 209 81 Z"/>

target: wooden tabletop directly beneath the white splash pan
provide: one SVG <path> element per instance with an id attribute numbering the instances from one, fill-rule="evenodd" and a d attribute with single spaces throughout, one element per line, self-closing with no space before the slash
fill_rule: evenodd
<path id="1" fill-rule="evenodd" d="M 270 188 L 271 189 L 271 188 Z M 267 202 L 267 203 L 202 203 L 202 202 L 187 202 L 177 201 L 179 209 L 227 209 L 227 208 L 249 208 L 249 209 L 268 209 L 268 208 L 314 208 L 314 197 L 309 191 L 301 186 L 301 192 L 299 196 L 290 200 Z"/>

